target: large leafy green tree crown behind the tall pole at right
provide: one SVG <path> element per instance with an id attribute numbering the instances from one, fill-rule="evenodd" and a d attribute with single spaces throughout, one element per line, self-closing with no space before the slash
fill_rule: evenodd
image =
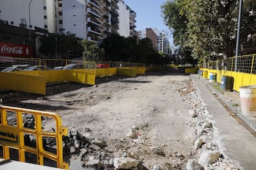
<path id="1" fill-rule="evenodd" d="M 238 7 L 236 0 L 174 0 L 162 5 L 166 25 L 173 31 L 174 44 L 180 53 L 194 58 L 216 59 L 232 56 L 236 41 Z M 242 24 L 242 44 L 247 35 L 255 33 L 255 16 L 249 12 L 255 7 L 253 0 L 245 2 Z M 251 8 L 251 9 L 250 9 Z M 251 26 L 248 25 L 251 23 Z M 246 27 L 253 30 L 248 32 Z"/>

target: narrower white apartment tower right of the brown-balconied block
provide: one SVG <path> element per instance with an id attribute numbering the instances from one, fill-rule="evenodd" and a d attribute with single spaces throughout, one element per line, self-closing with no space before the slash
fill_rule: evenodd
<path id="1" fill-rule="evenodd" d="M 121 36 L 134 36 L 136 35 L 135 23 L 136 13 L 128 7 L 124 1 L 118 2 L 119 13 L 119 30 Z"/>

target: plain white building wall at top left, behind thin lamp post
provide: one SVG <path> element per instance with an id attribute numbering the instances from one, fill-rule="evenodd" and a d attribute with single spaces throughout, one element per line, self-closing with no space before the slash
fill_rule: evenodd
<path id="1" fill-rule="evenodd" d="M 29 2 L 30 0 L 0 0 L 0 19 L 8 21 L 8 24 L 16 27 L 20 27 L 20 24 L 22 24 L 21 19 L 23 19 L 24 27 L 29 29 Z M 35 0 L 30 4 L 30 24 L 32 25 L 32 30 L 34 30 L 35 26 L 45 29 L 44 4 L 45 1 Z"/>

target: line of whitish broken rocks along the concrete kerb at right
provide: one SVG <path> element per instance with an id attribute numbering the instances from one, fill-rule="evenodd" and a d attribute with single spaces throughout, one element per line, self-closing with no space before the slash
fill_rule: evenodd
<path id="1" fill-rule="evenodd" d="M 188 88 L 196 89 L 192 84 L 188 84 L 187 89 L 180 90 L 180 94 L 186 94 L 184 100 L 190 103 L 191 106 L 188 112 L 191 121 L 188 124 L 194 128 L 196 140 L 192 142 L 194 143 L 196 154 L 188 159 L 186 169 L 238 169 L 233 165 L 232 161 L 221 154 L 218 146 L 214 143 L 214 124 L 207 118 L 209 115 L 199 96 L 198 90 Z M 186 91 L 188 91 L 188 93 Z"/>

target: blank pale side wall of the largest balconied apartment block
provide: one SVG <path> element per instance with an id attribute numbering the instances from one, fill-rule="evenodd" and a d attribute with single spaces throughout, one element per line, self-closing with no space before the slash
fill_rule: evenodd
<path id="1" fill-rule="evenodd" d="M 64 32 L 71 32 L 77 37 L 87 39 L 87 21 L 84 0 L 62 0 Z"/>

